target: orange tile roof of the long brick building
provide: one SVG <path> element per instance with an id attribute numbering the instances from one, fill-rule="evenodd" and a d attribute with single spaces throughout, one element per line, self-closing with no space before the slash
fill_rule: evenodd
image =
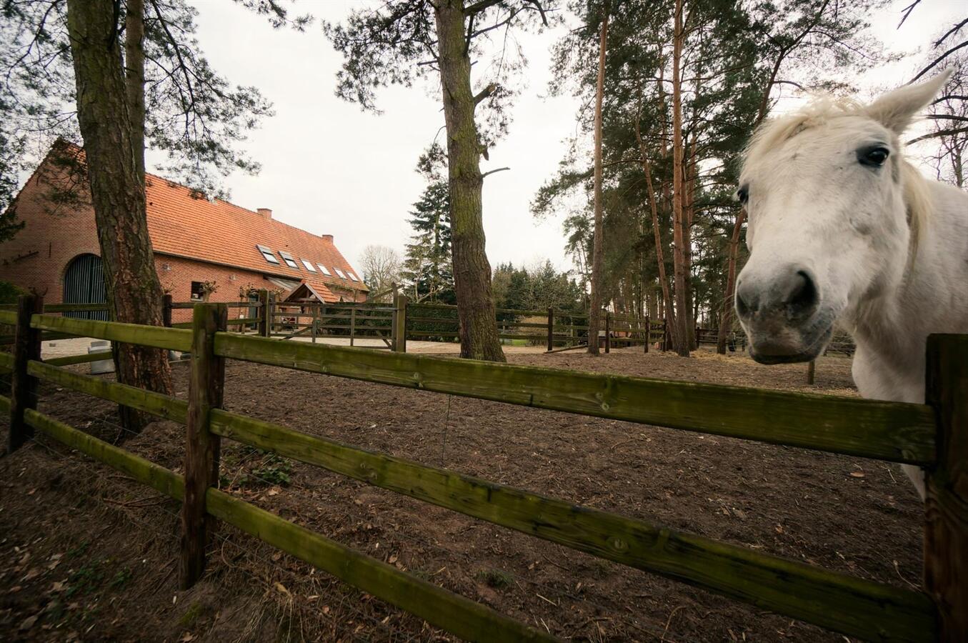
<path id="1" fill-rule="evenodd" d="M 192 190 L 160 176 L 147 175 L 148 231 L 155 252 L 214 261 L 256 272 L 301 279 L 327 301 L 338 301 L 327 285 L 369 291 L 359 273 L 333 244 L 332 236 L 318 236 L 224 200 L 197 198 Z M 256 245 L 272 250 L 279 264 L 262 257 Z M 291 254 L 297 268 L 290 268 L 279 251 Z M 316 272 L 307 270 L 310 261 Z M 319 271 L 318 263 L 331 273 Z M 341 279 L 334 268 L 352 272 L 360 281 Z"/>

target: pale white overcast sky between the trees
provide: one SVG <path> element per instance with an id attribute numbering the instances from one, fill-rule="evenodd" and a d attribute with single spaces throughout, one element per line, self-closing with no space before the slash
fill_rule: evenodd
<path id="1" fill-rule="evenodd" d="M 965 0 L 927 0 L 897 31 L 900 10 L 909 2 L 899 0 L 871 16 L 875 36 L 893 50 L 915 55 L 863 78 L 868 91 L 912 77 L 923 58 L 919 47 L 965 8 Z M 300 34 L 273 30 L 263 17 L 225 0 L 193 4 L 199 11 L 198 41 L 213 67 L 235 84 L 258 87 L 276 111 L 245 143 L 262 171 L 228 177 L 230 200 L 253 210 L 272 208 L 280 221 L 333 234 L 354 264 L 368 244 L 403 251 L 411 232 L 410 205 L 425 187 L 413 168 L 443 125 L 437 85 L 380 90 L 383 113 L 364 112 L 334 96 L 343 59 L 318 21 Z M 367 3 L 304 0 L 296 13 L 339 20 L 360 6 Z M 560 269 L 571 267 L 560 220 L 538 224 L 529 212 L 530 199 L 555 172 L 576 129 L 577 103 L 547 97 L 549 49 L 559 37 L 560 32 L 547 31 L 520 38 L 529 59 L 528 86 L 514 103 L 509 136 L 490 150 L 490 161 L 482 160 L 485 171 L 511 168 L 485 179 L 484 229 L 492 265 L 548 258 Z M 439 141 L 444 142 L 442 135 Z"/>

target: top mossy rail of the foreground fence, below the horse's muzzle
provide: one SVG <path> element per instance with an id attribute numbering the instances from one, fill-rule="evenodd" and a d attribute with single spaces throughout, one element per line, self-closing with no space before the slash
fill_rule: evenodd
<path id="1" fill-rule="evenodd" d="M 740 386 L 596 375 L 409 353 L 281 344 L 218 333 L 215 352 L 302 371 L 770 444 L 927 465 L 927 406 Z"/>

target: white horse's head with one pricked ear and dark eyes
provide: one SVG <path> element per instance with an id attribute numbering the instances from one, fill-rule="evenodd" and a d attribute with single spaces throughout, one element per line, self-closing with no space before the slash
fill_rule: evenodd
<path id="1" fill-rule="evenodd" d="M 736 291 L 754 359 L 815 358 L 834 322 L 902 284 L 927 198 L 900 136 L 949 74 L 870 105 L 818 100 L 754 134 L 737 192 L 750 254 Z"/>

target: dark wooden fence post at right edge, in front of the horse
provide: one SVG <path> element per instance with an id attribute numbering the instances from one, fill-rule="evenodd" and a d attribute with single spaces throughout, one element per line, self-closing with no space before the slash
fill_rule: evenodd
<path id="1" fill-rule="evenodd" d="M 924 401 L 938 417 L 937 460 L 925 470 L 924 591 L 938 641 L 968 635 L 968 335 L 930 335 Z"/>

